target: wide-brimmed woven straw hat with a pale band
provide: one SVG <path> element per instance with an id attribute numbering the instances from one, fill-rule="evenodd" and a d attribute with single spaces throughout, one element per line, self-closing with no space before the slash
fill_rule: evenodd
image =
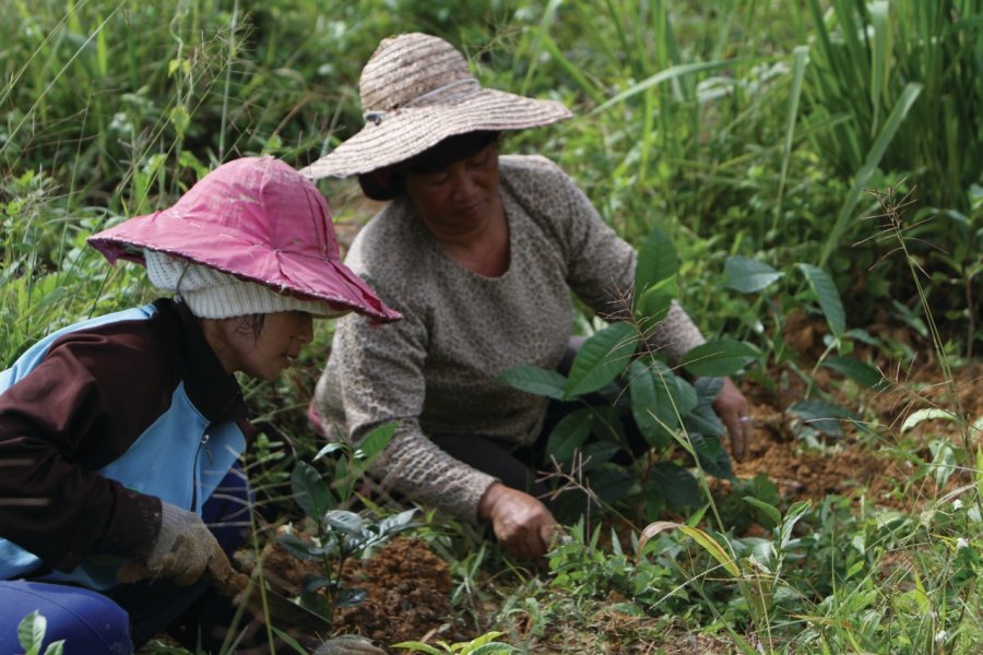
<path id="1" fill-rule="evenodd" d="M 365 127 L 300 172 L 360 175 L 467 132 L 522 130 L 571 116 L 561 104 L 484 88 L 446 40 L 402 34 L 379 44 L 358 83 Z"/>

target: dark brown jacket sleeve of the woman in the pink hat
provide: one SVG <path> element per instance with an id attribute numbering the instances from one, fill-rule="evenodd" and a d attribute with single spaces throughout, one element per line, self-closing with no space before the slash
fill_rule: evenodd
<path id="1" fill-rule="evenodd" d="M 95 473 L 159 402 L 133 384 L 143 359 L 102 340 L 56 343 L 0 395 L 0 536 L 54 569 L 94 555 L 139 557 L 156 539 L 159 500 Z"/>

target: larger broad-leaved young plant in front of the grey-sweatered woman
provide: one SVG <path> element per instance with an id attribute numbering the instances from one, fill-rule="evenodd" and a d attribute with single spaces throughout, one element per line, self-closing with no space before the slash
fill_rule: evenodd
<path id="1" fill-rule="evenodd" d="M 701 472 L 733 477 L 720 441 L 725 430 L 712 403 L 722 378 L 758 357 L 741 342 L 703 344 L 682 361 L 694 382 L 666 364 L 653 335 L 672 307 L 677 271 L 675 249 L 656 228 L 639 250 L 630 303 L 626 300 L 625 310 L 613 317 L 618 320 L 583 343 L 568 374 L 520 366 L 499 377 L 517 389 L 577 407 L 549 433 L 547 458 L 583 462 L 579 468 L 587 485 L 603 502 L 639 492 L 647 515 L 666 504 L 701 503 L 697 478 L 670 456 L 677 444 Z M 654 456 L 646 456 L 649 452 Z"/>

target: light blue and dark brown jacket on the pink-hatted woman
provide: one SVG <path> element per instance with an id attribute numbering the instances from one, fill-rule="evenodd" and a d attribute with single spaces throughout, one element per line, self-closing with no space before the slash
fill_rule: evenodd
<path id="1" fill-rule="evenodd" d="M 0 372 L 0 579 L 116 584 L 246 446 L 245 405 L 170 300 L 76 323 Z"/>

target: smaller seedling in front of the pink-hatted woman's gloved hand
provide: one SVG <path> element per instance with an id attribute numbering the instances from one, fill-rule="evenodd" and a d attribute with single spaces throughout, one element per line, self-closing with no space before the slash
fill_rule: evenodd
<path id="1" fill-rule="evenodd" d="M 415 509 L 382 520 L 339 509 L 351 500 L 355 483 L 365 474 L 372 458 L 386 449 L 394 430 L 395 424 L 376 428 L 357 449 L 340 442 L 321 449 L 315 461 L 328 454 L 334 455 L 336 461 L 334 490 L 312 465 L 297 462 L 294 468 L 291 480 L 294 500 L 317 526 L 317 532 L 308 538 L 288 532 L 277 540 L 294 557 L 320 563 L 323 574 L 307 575 L 303 581 L 300 604 L 329 620 L 335 609 L 358 605 L 366 597 L 364 590 L 344 586 L 342 573 L 345 562 L 393 535 L 415 527 Z"/>

